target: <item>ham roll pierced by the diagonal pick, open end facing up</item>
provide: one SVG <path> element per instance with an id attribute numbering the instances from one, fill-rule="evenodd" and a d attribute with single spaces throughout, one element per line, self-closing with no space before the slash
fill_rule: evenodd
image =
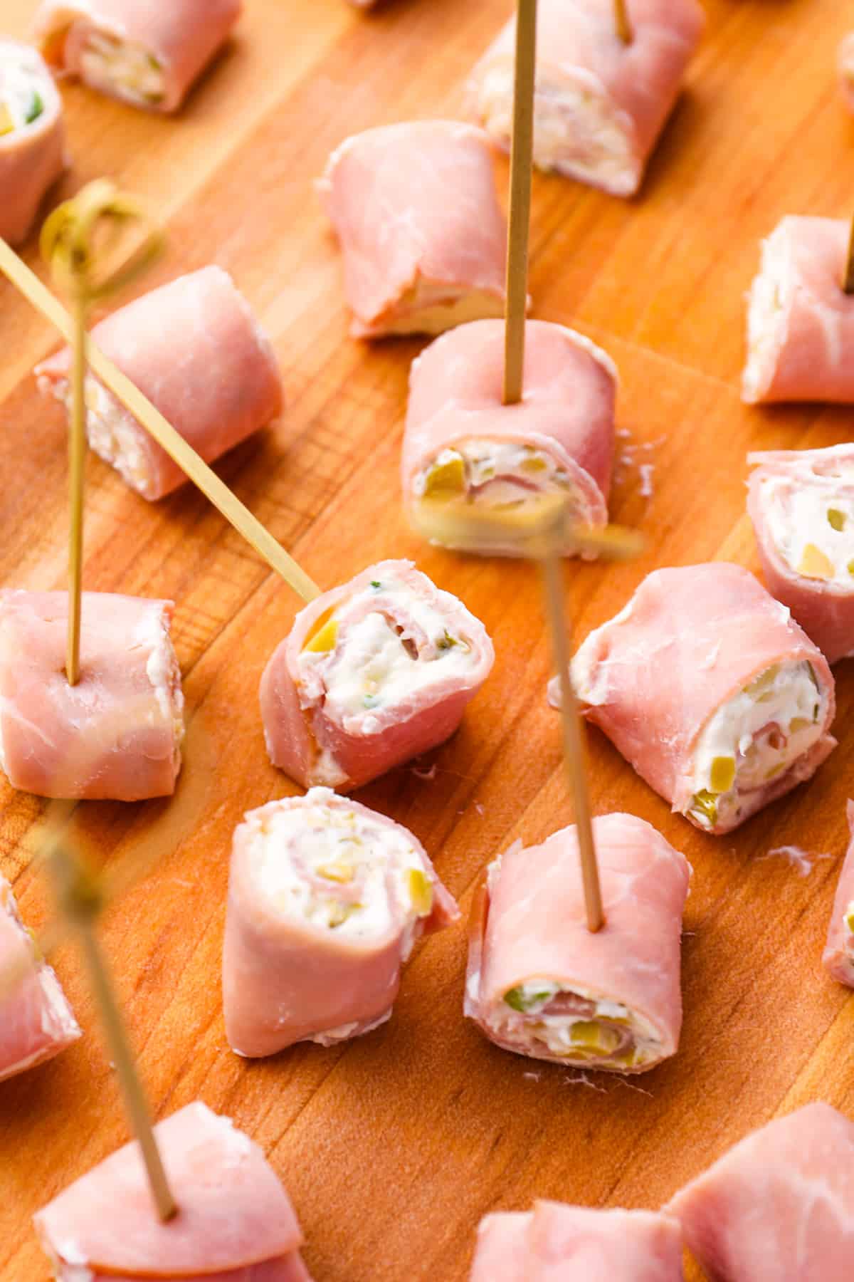
<path id="1" fill-rule="evenodd" d="M 453 735 L 494 660 L 483 623 L 411 562 L 387 560 L 301 610 L 261 677 L 270 760 L 350 790 Z"/>

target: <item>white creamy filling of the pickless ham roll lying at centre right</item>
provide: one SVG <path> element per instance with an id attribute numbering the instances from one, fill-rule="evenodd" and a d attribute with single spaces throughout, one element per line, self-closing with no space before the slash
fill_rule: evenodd
<path id="1" fill-rule="evenodd" d="M 705 723 L 694 749 L 691 815 L 713 827 L 744 794 L 787 769 L 823 735 L 826 695 L 807 660 L 773 664 Z"/>

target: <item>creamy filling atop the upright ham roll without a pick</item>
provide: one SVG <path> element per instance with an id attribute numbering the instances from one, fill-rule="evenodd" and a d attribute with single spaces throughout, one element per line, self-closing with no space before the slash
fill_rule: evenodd
<path id="1" fill-rule="evenodd" d="M 399 931 L 406 960 L 419 919 L 433 906 L 433 877 L 403 829 L 376 822 L 364 809 L 330 805 L 333 797 L 329 788 L 311 788 L 303 805 L 256 819 L 259 888 L 284 917 L 344 938 L 375 940 Z"/>

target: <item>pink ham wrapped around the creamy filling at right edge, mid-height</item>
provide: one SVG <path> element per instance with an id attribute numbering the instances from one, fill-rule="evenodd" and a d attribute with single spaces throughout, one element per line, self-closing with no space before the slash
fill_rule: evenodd
<path id="1" fill-rule="evenodd" d="M 777 450 L 749 454 L 755 468 L 748 491 L 748 513 L 757 536 L 766 583 L 787 605 L 828 663 L 854 653 L 854 578 L 850 586 L 799 574 L 781 555 L 768 519 L 768 492 L 796 495 L 808 487 L 854 496 L 854 445 L 826 450 Z M 844 470 L 848 470 L 848 478 Z M 794 518 L 793 518 L 794 519 Z"/>

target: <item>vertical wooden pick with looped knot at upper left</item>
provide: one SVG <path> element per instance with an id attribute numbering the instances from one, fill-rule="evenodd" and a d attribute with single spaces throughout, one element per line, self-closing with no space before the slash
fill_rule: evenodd
<path id="1" fill-rule="evenodd" d="M 129 224 L 143 224 L 142 244 L 120 268 L 105 268 L 117 240 Z M 72 303 L 72 412 L 68 437 L 68 655 L 69 685 L 79 681 L 81 596 L 83 578 L 83 478 L 86 467 L 86 323 L 92 304 L 138 276 L 160 253 L 163 235 L 151 227 L 138 205 L 122 196 L 106 178 L 88 183 L 59 205 L 41 231 L 41 254 L 54 282 Z"/>

